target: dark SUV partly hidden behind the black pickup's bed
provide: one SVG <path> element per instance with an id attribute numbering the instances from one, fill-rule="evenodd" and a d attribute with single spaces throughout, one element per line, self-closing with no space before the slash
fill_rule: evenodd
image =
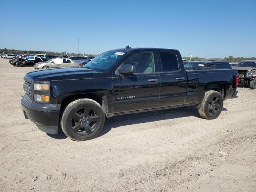
<path id="1" fill-rule="evenodd" d="M 185 66 L 188 68 L 222 68 L 222 69 L 231 69 L 229 62 L 222 60 L 200 60 L 200 61 L 191 61 L 188 62 Z"/>

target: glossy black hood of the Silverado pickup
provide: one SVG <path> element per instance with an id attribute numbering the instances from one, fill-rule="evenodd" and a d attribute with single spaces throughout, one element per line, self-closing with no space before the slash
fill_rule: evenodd
<path id="1" fill-rule="evenodd" d="M 53 80 L 70 80 L 86 78 L 108 77 L 107 72 L 98 72 L 88 68 L 57 68 L 28 72 L 25 78 L 34 81 L 53 81 Z"/>

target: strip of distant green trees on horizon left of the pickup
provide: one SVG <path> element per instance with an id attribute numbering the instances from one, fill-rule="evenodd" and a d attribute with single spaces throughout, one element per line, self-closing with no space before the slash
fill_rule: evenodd
<path id="1" fill-rule="evenodd" d="M 47 55 L 76 55 L 76 56 L 82 56 L 82 55 L 86 55 L 86 56 L 96 56 L 94 54 L 81 54 L 81 53 L 69 53 L 69 52 L 52 52 L 52 51 L 32 51 L 32 50 L 15 50 L 15 49 L 0 49 L 0 53 L 5 53 L 5 54 L 15 54 L 15 55 L 20 55 L 20 54 L 47 54 Z"/>

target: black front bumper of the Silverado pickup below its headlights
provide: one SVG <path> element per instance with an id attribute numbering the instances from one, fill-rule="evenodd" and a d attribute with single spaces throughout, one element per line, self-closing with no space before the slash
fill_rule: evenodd
<path id="1" fill-rule="evenodd" d="M 36 124 L 39 130 L 50 134 L 58 133 L 60 110 L 54 109 L 59 106 L 30 103 L 24 96 L 21 104 L 25 118 Z"/>

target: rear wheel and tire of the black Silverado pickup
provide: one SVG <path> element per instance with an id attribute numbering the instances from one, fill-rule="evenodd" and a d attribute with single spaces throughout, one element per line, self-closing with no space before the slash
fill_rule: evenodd
<path id="1" fill-rule="evenodd" d="M 220 92 L 207 91 L 198 112 L 202 118 L 216 119 L 223 108 L 223 97 Z"/>

